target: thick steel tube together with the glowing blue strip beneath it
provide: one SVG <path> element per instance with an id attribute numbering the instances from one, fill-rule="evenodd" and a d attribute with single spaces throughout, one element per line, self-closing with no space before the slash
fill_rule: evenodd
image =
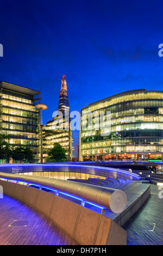
<path id="1" fill-rule="evenodd" d="M 17 175 L 0 173 L 0 179 L 15 182 L 26 186 L 33 186 L 47 192 L 53 192 L 57 196 L 64 196 L 78 200 L 82 206 L 89 204 L 101 210 L 110 210 L 120 214 L 127 206 L 126 194 L 114 188 L 99 187 L 68 180 L 45 178 L 42 176 Z"/>

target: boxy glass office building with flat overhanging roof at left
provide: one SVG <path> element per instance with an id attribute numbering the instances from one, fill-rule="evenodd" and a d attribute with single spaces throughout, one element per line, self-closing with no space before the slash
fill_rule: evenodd
<path id="1" fill-rule="evenodd" d="M 39 160 L 39 110 L 37 90 L 0 82 L 0 133 L 7 135 L 9 144 L 28 145 Z"/>

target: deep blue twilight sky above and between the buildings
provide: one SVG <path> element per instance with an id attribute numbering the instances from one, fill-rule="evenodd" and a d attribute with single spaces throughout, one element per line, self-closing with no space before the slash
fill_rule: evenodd
<path id="1" fill-rule="evenodd" d="M 131 89 L 163 90 L 162 1 L 1 0 L 0 81 L 40 90 L 43 123 L 66 75 L 71 111 Z M 73 132 L 75 148 L 78 133 Z"/>

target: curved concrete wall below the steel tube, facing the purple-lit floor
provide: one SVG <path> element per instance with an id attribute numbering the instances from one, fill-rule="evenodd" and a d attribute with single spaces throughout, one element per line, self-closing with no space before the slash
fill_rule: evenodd
<path id="1" fill-rule="evenodd" d="M 3 178 L 19 179 L 27 182 L 20 175 L 2 175 Z M 29 180 L 29 176 L 28 176 Z M 36 179 L 29 180 L 35 181 Z M 49 185 L 45 178 L 39 179 L 43 185 Z M 127 233 L 120 225 L 110 218 L 84 208 L 82 205 L 61 198 L 53 193 L 27 185 L 0 180 L 3 192 L 22 200 L 42 212 L 53 223 L 57 224 L 66 234 L 79 245 L 126 245 Z M 38 184 L 38 183 L 37 183 Z"/>

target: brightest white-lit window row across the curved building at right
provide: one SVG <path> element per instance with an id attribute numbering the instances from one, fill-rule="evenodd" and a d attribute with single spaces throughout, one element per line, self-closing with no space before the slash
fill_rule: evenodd
<path id="1" fill-rule="evenodd" d="M 89 128 L 89 127 L 88 127 Z M 149 122 L 149 123 L 131 123 L 131 124 L 121 124 L 121 125 L 114 125 L 111 126 L 111 130 L 108 127 L 106 129 L 99 129 L 99 130 L 93 130 L 93 129 L 87 129 L 86 131 L 81 132 L 81 137 L 87 137 L 87 136 L 95 136 L 95 135 L 105 135 L 105 133 L 109 135 L 110 132 L 119 132 L 119 131 L 128 131 L 128 130 L 145 130 L 145 129 L 161 129 L 163 130 L 163 123 L 158 122 Z M 106 135 L 107 136 L 107 135 Z"/>

